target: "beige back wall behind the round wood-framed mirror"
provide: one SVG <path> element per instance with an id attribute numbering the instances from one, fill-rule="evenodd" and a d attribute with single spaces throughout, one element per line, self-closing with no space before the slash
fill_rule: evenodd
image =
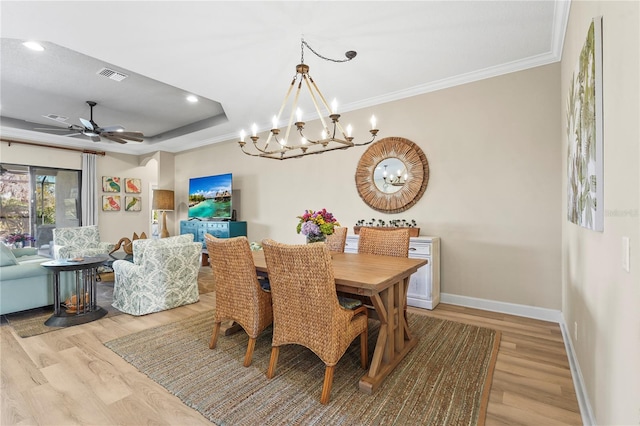
<path id="1" fill-rule="evenodd" d="M 442 292 L 560 310 L 559 92 L 555 64 L 344 113 L 354 129 L 375 113 L 380 137 L 407 138 L 426 154 L 429 186 L 403 213 L 381 214 L 358 196 L 366 147 L 276 161 L 232 141 L 176 155 L 178 218 L 189 177 L 233 172 L 250 240 L 302 242 L 295 227 L 305 209 L 327 208 L 350 232 L 359 219 L 415 219 L 442 238 Z"/>

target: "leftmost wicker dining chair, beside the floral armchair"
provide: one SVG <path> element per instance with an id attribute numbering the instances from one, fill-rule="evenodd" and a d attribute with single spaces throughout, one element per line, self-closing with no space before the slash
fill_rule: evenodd
<path id="1" fill-rule="evenodd" d="M 258 335 L 273 322 L 271 294 L 258 284 L 247 237 L 216 238 L 205 234 L 216 292 L 215 322 L 209 348 L 216 347 L 220 324 L 233 320 L 249 335 L 244 366 L 251 358 Z"/>

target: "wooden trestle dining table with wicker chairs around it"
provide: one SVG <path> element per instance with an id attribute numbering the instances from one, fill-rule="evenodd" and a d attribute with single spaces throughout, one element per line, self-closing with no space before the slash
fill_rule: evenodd
<path id="1" fill-rule="evenodd" d="M 254 251 L 259 273 L 267 273 L 263 251 Z M 380 331 L 368 372 L 359 388 L 373 393 L 385 377 L 418 343 L 411 334 L 405 310 L 409 278 L 426 259 L 377 256 L 359 253 L 331 253 L 336 290 L 371 298 L 380 320 Z"/>

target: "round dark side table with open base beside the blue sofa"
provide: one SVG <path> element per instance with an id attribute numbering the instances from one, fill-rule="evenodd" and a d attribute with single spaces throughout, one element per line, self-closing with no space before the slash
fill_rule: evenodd
<path id="1" fill-rule="evenodd" d="M 45 325 L 50 327 L 69 327 L 97 320 L 107 314 L 105 309 L 96 304 L 97 268 L 107 260 L 109 260 L 108 256 L 94 256 L 51 260 L 41 264 L 43 267 L 52 270 L 54 274 L 53 315 L 45 321 Z M 60 307 L 60 272 L 64 271 L 75 272 L 75 313 L 67 313 Z"/>

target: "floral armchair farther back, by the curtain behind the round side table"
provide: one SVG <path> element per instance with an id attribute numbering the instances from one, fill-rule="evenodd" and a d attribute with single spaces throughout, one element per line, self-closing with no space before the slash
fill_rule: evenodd
<path id="1" fill-rule="evenodd" d="M 107 255 L 114 246 L 113 243 L 100 241 L 97 225 L 53 230 L 53 256 L 56 259 Z"/>

